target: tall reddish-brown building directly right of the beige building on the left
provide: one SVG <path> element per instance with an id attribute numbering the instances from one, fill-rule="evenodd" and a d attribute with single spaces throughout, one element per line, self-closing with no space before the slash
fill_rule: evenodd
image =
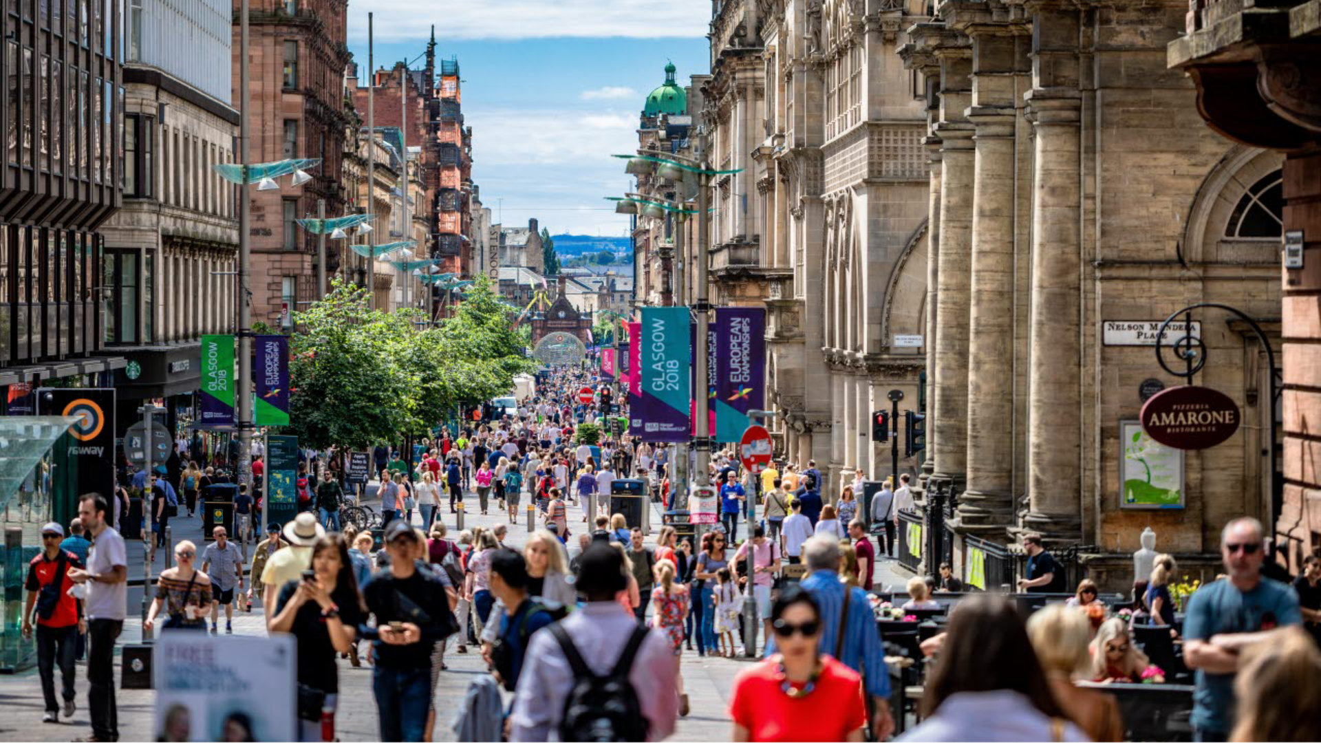
<path id="1" fill-rule="evenodd" d="M 343 0 L 252 0 L 250 26 L 251 161 L 318 157 L 301 186 L 251 188 L 252 320 L 275 325 L 281 307 L 297 309 L 316 292 L 316 242 L 295 219 L 343 214 L 339 164 L 349 123 L 343 107 Z M 239 99 L 239 26 L 234 24 L 234 100 Z M 330 270 L 334 267 L 330 266 Z"/>

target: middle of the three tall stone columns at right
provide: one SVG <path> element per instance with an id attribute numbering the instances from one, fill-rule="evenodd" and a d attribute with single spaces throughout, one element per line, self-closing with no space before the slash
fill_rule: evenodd
<path id="1" fill-rule="evenodd" d="M 968 488 L 959 524 L 1000 531 L 1013 516 L 1015 48 L 1004 26 L 972 30 L 976 128 L 968 357 Z"/>

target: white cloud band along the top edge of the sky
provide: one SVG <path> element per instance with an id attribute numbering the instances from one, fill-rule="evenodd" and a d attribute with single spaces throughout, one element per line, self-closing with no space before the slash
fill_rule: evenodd
<path id="1" fill-rule="evenodd" d="M 366 7 L 363 7 L 366 5 Z M 419 21 L 437 20 L 437 37 L 477 38 L 631 38 L 701 37 L 711 19 L 709 0 L 367 0 L 349 13 L 349 36 L 367 33 L 366 11 L 375 13 L 378 41 L 416 38 Z"/>

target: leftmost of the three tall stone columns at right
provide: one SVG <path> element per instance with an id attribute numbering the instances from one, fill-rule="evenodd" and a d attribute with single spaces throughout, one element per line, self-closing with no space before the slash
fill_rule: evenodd
<path id="1" fill-rule="evenodd" d="M 972 54 L 966 46 L 937 49 L 941 59 L 941 253 L 935 334 L 935 472 L 963 489 L 968 420 L 968 304 L 972 262 Z"/>

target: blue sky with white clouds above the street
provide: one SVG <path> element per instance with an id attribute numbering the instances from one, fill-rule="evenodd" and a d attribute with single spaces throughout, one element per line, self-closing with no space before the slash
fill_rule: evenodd
<path id="1" fill-rule="evenodd" d="M 373 11 L 376 66 L 412 62 L 436 24 L 437 59 L 458 57 L 473 180 L 491 218 L 622 235 L 627 217 L 602 197 L 622 194 L 631 178 L 610 153 L 637 147 L 638 114 L 664 81 L 666 61 L 680 83 L 709 69 L 709 0 L 367 0 L 349 5 L 349 48 L 365 70 Z"/>

